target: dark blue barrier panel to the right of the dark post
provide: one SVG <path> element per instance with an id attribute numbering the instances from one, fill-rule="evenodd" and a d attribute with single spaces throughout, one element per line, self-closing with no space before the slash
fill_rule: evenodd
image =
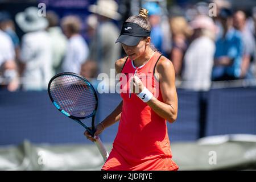
<path id="1" fill-rule="evenodd" d="M 210 90 L 206 135 L 256 134 L 256 88 Z"/>

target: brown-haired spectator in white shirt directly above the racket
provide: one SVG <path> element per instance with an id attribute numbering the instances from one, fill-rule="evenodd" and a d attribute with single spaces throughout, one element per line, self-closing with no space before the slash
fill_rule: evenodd
<path id="1" fill-rule="evenodd" d="M 80 35 L 81 20 L 77 16 L 65 16 L 61 27 L 68 38 L 67 52 L 62 64 L 64 72 L 80 73 L 81 65 L 88 59 L 89 48 Z"/>

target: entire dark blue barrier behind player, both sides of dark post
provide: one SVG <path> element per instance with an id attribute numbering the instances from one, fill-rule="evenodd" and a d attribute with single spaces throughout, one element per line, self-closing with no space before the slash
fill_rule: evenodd
<path id="1" fill-rule="evenodd" d="M 200 93 L 177 89 L 177 121 L 167 123 L 171 142 L 199 138 Z M 208 96 L 208 95 L 207 95 Z M 98 94 L 96 122 L 102 121 L 121 101 L 118 94 Z M 256 89 L 216 89 L 209 92 L 205 135 L 256 134 Z M 33 143 L 90 143 L 84 128 L 55 109 L 47 92 L 0 92 L 0 145 Z M 113 142 L 118 123 L 102 133 Z"/>

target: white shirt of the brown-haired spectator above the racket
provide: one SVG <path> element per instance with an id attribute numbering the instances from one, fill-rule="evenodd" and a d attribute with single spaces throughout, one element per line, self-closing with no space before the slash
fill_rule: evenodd
<path id="1" fill-rule="evenodd" d="M 81 64 L 88 57 L 89 48 L 81 35 L 72 36 L 68 41 L 67 54 L 63 61 L 64 72 L 80 73 Z"/>

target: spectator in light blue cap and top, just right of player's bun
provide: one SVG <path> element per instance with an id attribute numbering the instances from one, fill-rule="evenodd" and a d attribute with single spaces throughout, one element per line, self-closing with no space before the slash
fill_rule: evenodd
<path id="1" fill-rule="evenodd" d="M 160 27 L 161 22 L 161 9 L 156 2 L 147 2 L 143 5 L 144 9 L 148 10 L 148 21 L 151 25 L 151 43 L 158 49 L 159 52 L 163 53 L 163 31 Z"/>

